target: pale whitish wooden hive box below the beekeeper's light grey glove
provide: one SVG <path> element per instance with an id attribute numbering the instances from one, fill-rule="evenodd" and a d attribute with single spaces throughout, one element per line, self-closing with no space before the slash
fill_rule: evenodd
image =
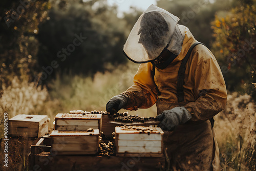
<path id="1" fill-rule="evenodd" d="M 163 131 L 160 127 L 117 126 L 115 137 L 117 156 L 127 153 L 151 155 L 163 153 Z"/>

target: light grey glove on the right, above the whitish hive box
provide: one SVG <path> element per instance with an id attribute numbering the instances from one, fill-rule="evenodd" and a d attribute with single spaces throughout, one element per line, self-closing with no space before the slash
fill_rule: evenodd
<path id="1" fill-rule="evenodd" d="M 191 119 L 191 114 L 186 110 L 186 108 L 181 106 L 163 111 L 157 116 L 157 119 L 161 121 L 158 124 L 158 127 L 161 127 L 164 131 L 173 131 L 176 125 L 183 124 Z"/>

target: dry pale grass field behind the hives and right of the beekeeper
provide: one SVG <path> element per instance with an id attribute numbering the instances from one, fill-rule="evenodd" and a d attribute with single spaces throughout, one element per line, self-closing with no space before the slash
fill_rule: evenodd
<path id="1" fill-rule="evenodd" d="M 17 114 L 36 114 L 48 115 L 53 121 L 57 113 L 70 110 L 105 110 L 105 104 L 111 97 L 133 84 L 137 68 L 138 65 L 130 62 L 127 66 L 118 66 L 112 73 L 96 73 L 94 78 L 58 75 L 49 84 L 50 91 L 45 87 L 35 88 L 34 83 L 29 83 L 27 79 L 19 80 L 14 77 L 11 86 L 2 87 L 4 94 L 0 117 L 3 119 L 3 114 L 7 111 L 9 118 Z M 226 109 L 215 117 L 222 170 L 256 170 L 255 111 L 256 105 L 249 95 L 232 93 L 228 95 Z M 129 114 L 156 116 L 156 106 L 136 112 L 129 111 Z M 0 126 L 2 136 L 3 124 Z M 25 144 L 20 143 L 23 147 Z M 13 165 L 18 167 L 13 170 L 26 168 L 27 161 L 20 156 L 25 152 L 26 147 L 17 152 L 18 160 L 13 158 Z"/>

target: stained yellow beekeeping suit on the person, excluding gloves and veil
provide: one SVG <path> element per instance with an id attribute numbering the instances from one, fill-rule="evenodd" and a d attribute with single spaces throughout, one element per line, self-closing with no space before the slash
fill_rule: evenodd
<path id="1" fill-rule="evenodd" d="M 215 133 L 211 129 L 209 119 L 225 108 L 227 98 L 225 81 L 214 55 L 204 45 L 197 45 L 186 63 L 183 86 L 185 102 L 178 103 L 176 94 L 178 70 L 189 47 L 197 41 L 186 27 L 180 27 L 185 32 L 180 54 L 167 68 L 163 70 L 156 68 L 155 75 L 151 62 L 140 65 L 133 86 L 124 92 L 130 97 L 126 109 L 145 109 L 156 103 L 157 114 L 160 114 L 164 110 L 184 106 L 191 113 L 191 120 L 177 126 L 174 132 L 165 133 L 164 137 L 164 145 L 168 148 L 167 153 L 173 162 L 173 167 L 186 170 L 189 170 L 188 168 L 219 170 L 219 149 L 216 138 L 212 138 Z M 187 138 L 184 139 L 182 136 Z M 177 144 L 181 143 L 177 142 L 177 139 L 184 142 L 183 146 Z M 191 141 L 196 143 L 191 144 Z M 195 148 L 200 153 L 194 150 L 189 152 L 191 148 Z M 213 154 L 215 157 L 210 158 L 209 155 L 206 157 L 207 154 Z M 201 160 L 203 164 L 196 160 Z"/>

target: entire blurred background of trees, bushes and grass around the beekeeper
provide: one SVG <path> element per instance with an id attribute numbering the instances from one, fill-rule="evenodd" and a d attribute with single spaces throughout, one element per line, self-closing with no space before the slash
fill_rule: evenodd
<path id="1" fill-rule="evenodd" d="M 212 51 L 222 69 L 231 101 L 216 118 L 223 170 L 255 170 L 255 5 L 157 1 L 180 17 L 179 24 Z M 142 11 L 133 7 L 117 17 L 117 9 L 106 0 L 2 0 L 1 117 L 7 111 L 10 118 L 47 114 L 53 120 L 70 110 L 105 110 L 112 96 L 129 88 L 138 65 L 124 57 L 122 47 Z M 156 107 L 130 113 L 155 116 Z"/>

